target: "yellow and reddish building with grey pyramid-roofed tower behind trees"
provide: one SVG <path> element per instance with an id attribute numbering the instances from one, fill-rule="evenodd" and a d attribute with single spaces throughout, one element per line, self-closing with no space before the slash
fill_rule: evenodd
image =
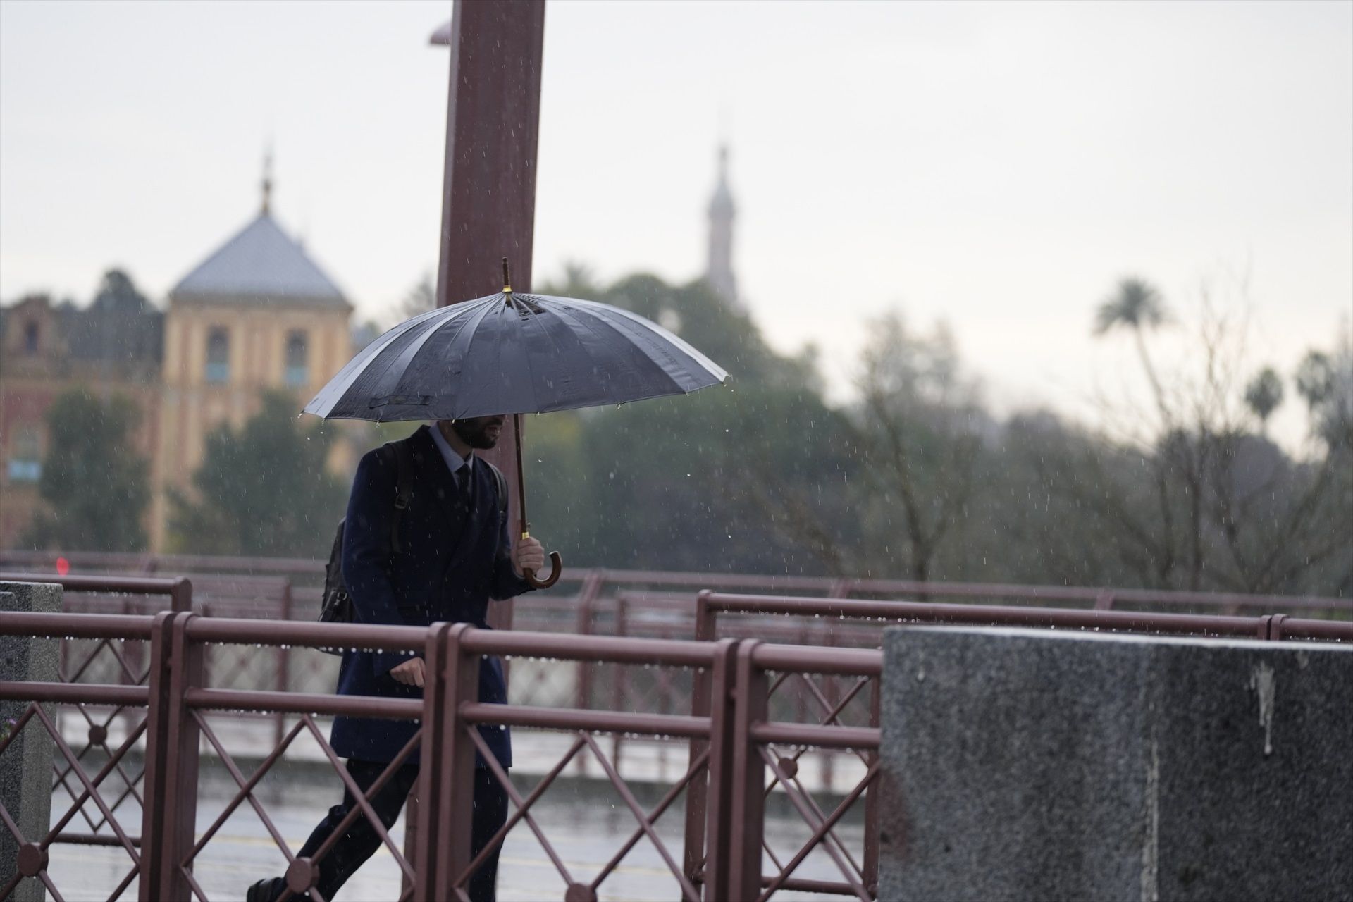
<path id="1" fill-rule="evenodd" d="M 0 310 L 0 548 L 15 548 L 41 506 L 46 412 L 80 387 L 141 408 L 134 448 L 150 461 L 150 550 L 169 548 L 168 490 L 191 495 L 207 435 L 239 427 L 264 391 L 296 410 L 352 357 L 352 304 L 277 224 L 268 204 L 184 276 L 156 310 L 112 272 L 85 310 L 45 296 Z M 354 446 L 334 444 L 349 472 Z"/>

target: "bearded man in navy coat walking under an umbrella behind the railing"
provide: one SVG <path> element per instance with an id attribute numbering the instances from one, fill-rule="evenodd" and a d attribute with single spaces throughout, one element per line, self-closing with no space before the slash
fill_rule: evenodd
<path id="1" fill-rule="evenodd" d="M 422 426 L 403 448 L 390 456 L 369 452 L 357 465 L 342 545 L 342 575 L 352 596 L 354 619 L 363 623 L 426 626 L 437 621 L 487 627 L 490 599 L 521 595 L 529 584 L 520 576 L 538 571 L 544 549 L 534 538 L 513 545 L 507 506 L 501 492 L 506 483 L 475 449 L 498 442 L 503 417 L 438 421 Z M 405 456 L 406 464 L 396 462 Z M 391 460 L 394 457 L 395 460 Z M 399 467 L 409 468 L 411 491 L 405 510 L 396 510 Z M 422 698 L 423 660 L 413 653 L 346 652 L 338 671 L 341 695 Z M 507 701 L 502 663 L 479 663 L 479 701 Z M 330 741 L 348 759 L 348 774 L 367 792 L 386 765 L 413 738 L 411 721 L 334 718 Z M 498 763 L 511 767 L 511 738 L 506 728 L 480 726 L 480 736 Z M 471 855 L 502 828 L 507 818 L 507 794 L 484 761 L 475 768 L 474 830 Z M 418 776 L 414 752 L 372 799 L 386 829 L 394 825 Z M 341 805 L 306 840 L 300 857 L 314 856 L 356 806 L 350 791 Z M 315 888 L 331 901 L 338 887 L 379 848 L 380 837 L 367 820 L 353 825 L 318 860 Z M 475 872 L 469 898 L 492 902 L 498 876 L 494 851 Z M 284 878 L 268 878 L 249 887 L 248 902 L 273 902 L 284 891 Z"/>

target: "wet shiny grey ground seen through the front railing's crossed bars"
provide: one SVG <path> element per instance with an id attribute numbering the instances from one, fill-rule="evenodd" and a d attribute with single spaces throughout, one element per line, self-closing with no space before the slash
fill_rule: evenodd
<path id="1" fill-rule="evenodd" d="M 245 774 L 253 767 L 244 767 Z M 524 794 L 528 784 L 537 778 L 517 775 Z M 234 794 L 234 784 L 219 767 L 208 767 L 204 761 L 198 806 L 198 830 L 211 826 Z M 652 807 L 662 784 L 636 784 L 636 795 L 644 809 Z M 325 815 L 329 805 L 338 801 L 341 790 L 337 776 L 313 764 L 283 764 L 260 783 L 257 797 L 267 809 L 277 832 L 288 847 L 302 845 L 314 825 Z M 767 809 L 767 841 L 779 860 L 786 861 L 800 845 L 806 841 L 809 829 L 802 824 L 782 799 L 773 797 Z M 823 798 L 820 803 L 831 810 L 835 799 Z M 57 792 L 53 797 L 54 818 L 69 806 L 69 797 Z M 91 813 L 93 807 L 87 807 Z M 509 806 L 509 810 L 514 810 Z M 570 878 L 590 882 L 612 859 L 618 848 L 637 829 L 637 820 L 609 784 L 595 779 L 568 778 L 552 786 L 532 807 L 532 814 L 547 836 Z M 139 807 L 129 799 L 119 809 L 119 821 L 129 833 L 139 832 Z M 668 855 L 679 865 L 682 860 L 683 811 L 674 805 L 656 824 L 659 840 Z M 87 832 L 88 824 L 78 818 L 68 830 Z M 107 828 L 101 830 L 107 833 Z M 846 824 L 839 834 L 859 857 L 863 832 L 861 825 Z M 403 820 L 395 825 L 392 838 L 402 848 Z M 193 874 L 207 898 L 242 899 L 245 888 L 261 876 L 281 874 L 285 859 L 269 836 L 257 813 L 248 802 L 235 809 L 222 825 L 218 834 L 204 847 L 196 859 Z M 767 860 L 766 870 L 773 865 Z M 118 847 L 88 847 L 57 844 L 51 848 L 50 874 L 66 899 L 106 899 L 122 879 L 133 870 L 131 859 Z M 794 876 L 839 880 L 840 872 L 821 849 L 815 851 Z M 388 849 L 380 849 L 337 895 L 337 902 L 367 902 L 395 899 L 399 895 L 400 874 Z M 528 899 L 563 899 L 566 880 L 545 855 L 543 847 L 525 824 L 518 824 L 509 834 L 503 847 L 498 898 L 503 902 Z M 137 884 L 133 882 L 122 894 L 123 899 L 134 899 Z M 678 883 L 663 860 L 663 856 L 647 838 L 641 838 L 625 856 L 621 864 L 598 887 L 599 899 L 674 899 L 679 898 Z M 802 893 L 779 893 L 777 899 L 829 899 Z"/>

